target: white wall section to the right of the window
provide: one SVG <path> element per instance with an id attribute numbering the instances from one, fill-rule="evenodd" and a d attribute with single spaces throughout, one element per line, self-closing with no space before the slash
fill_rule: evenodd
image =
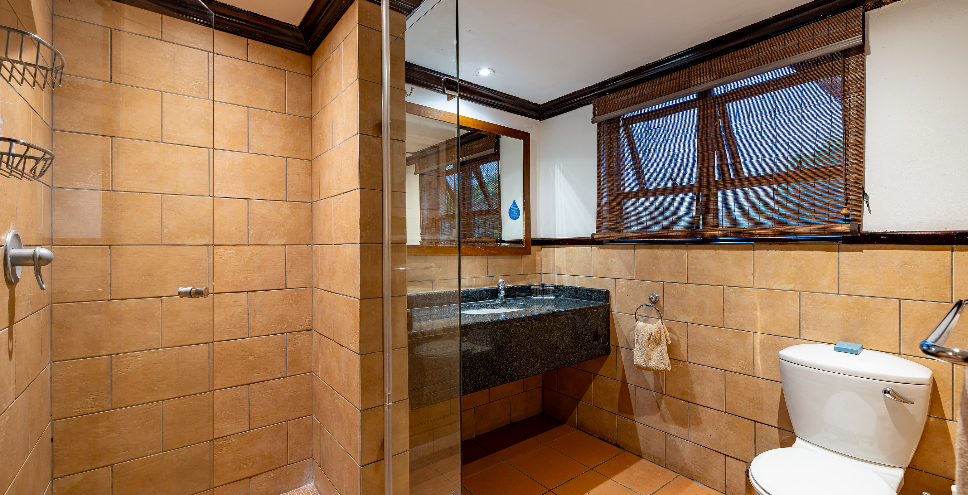
<path id="1" fill-rule="evenodd" d="M 867 13 L 864 231 L 968 230 L 968 2 Z"/>

